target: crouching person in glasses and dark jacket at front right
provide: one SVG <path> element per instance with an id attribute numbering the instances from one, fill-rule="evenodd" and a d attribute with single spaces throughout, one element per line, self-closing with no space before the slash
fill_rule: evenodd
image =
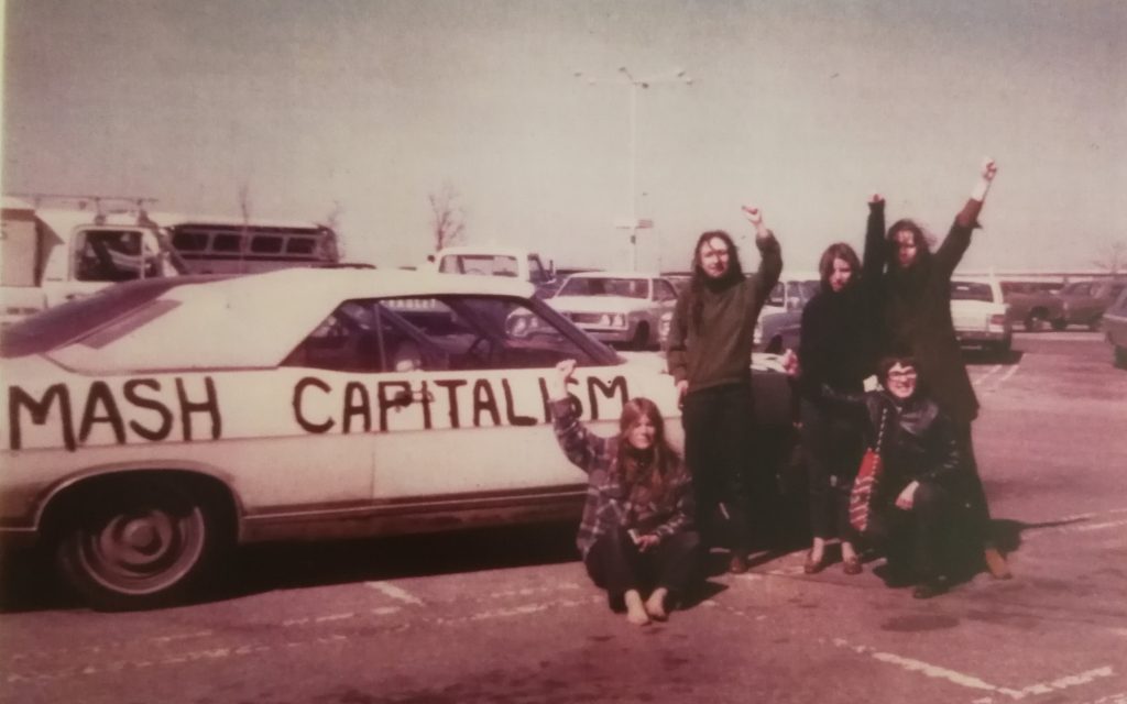
<path id="1" fill-rule="evenodd" d="M 955 425 L 921 390 L 912 358 L 884 359 L 877 376 L 884 389 L 866 394 L 866 406 L 884 470 L 868 537 L 884 547 L 889 583 L 914 583 L 912 596 L 926 599 L 947 590 L 966 465 Z"/>

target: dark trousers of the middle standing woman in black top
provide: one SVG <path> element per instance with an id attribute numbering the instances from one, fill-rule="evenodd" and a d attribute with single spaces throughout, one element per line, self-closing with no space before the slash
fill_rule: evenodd
<path id="1" fill-rule="evenodd" d="M 802 451 L 810 479 L 810 531 L 854 541 L 849 524 L 849 494 L 864 454 L 864 417 L 802 400 Z"/>

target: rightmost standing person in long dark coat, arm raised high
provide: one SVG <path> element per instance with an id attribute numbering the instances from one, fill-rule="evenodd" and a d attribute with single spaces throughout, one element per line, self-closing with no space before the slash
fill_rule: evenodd
<path id="1" fill-rule="evenodd" d="M 884 354 L 908 354 L 915 359 L 920 376 L 928 382 L 928 394 L 955 424 L 959 454 L 967 471 L 970 516 L 975 538 L 982 544 L 987 570 L 997 579 L 1008 579 L 1010 568 L 991 535 L 990 509 L 975 461 L 970 425 L 978 416 L 966 365 L 951 321 L 951 275 L 970 246 L 986 194 L 997 175 L 992 159 L 983 162 L 970 197 L 959 211 L 947 238 L 933 253 L 923 229 L 912 220 L 898 220 L 884 230 L 884 202 L 870 204 L 870 228 L 866 247 L 884 244 L 887 269 L 880 280 L 880 333 Z"/>

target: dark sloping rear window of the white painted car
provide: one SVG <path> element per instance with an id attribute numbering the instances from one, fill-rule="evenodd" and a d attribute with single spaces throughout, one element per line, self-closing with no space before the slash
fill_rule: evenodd
<path id="1" fill-rule="evenodd" d="M 168 310 L 152 305 L 166 292 L 214 278 L 153 278 L 103 288 L 94 295 L 70 301 L 5 328 L 0 332 L 0 357 L 42 354 L 85 337 L 112 321 L 118 321 L 115 327 L 126 320 L 132 320 L 134 327 L 144 324 Z"/>

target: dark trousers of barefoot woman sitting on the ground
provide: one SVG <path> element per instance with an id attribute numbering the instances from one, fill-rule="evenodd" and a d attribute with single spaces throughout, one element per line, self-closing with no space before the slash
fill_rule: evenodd
<path id="1" fill-rule="evenodd" d="M 598 536 L 583 563 L 612 603 L 629 589 L 665 587 L 676 596 L 690 589 L 701 573 L 700 537 L 693 531 L 674 533 L 642 552 L 625 528 L 620 528 Z"/>

